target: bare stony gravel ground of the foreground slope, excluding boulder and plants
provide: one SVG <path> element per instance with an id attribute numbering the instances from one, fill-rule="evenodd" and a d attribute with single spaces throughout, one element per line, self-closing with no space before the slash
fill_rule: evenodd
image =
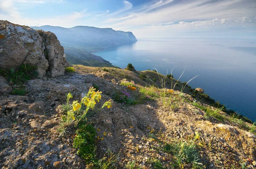
<path id="1" fill-rule="evenodd" d="M 29 80 L 26 96 L 2 95 L 0 167 L 85 168 L 84 160 L 73 148 L 76 130 L 71 127 L 65 136 L 58 137 L 62 116 L 59 105 L 65 103 L 68 92 L 79 100 L 93 85 L 103 92 L 102 100 L 96 105 L 102 105 L 118 91 L 140 100 L 135 105 L 114 101 L 112 108 L 88 115 L 88 121 L 97 129 L 96 135 L 103 138 L 95 138 L 97 157 L 102 158 L 108 148 L 118 154 L 117 161 L 109 168 L 127 168 L 132 162 L 134 168 L 172 168 L 177 158 L 167 145 L 177 141 L 192 142 L 197 133 L 200 136 L 195 145 L 203 168 L 256 166 L 256 135 L 245 131 L 239 122 L 206 118 L 206 112 L 194 106 L 194 99 L 184 93 L 140 85 L 130 90 L 125 86 L 128 83 L 127 80 L 112 80 L 109 72 L 76 73 Z M 148 97 L 143 97 L 145 95 Z M 166 100 L 171 100 L 170 104 L 166 105 Z M 229 117 L 224 112 L 219 114 Z M 183 167 L 192 165 L 187 163 Z"/>

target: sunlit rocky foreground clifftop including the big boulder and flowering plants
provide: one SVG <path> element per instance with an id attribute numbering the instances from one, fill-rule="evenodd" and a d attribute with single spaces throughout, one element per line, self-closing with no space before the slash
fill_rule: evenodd
<path id="1" fill-rule="evenodd" d="M 256 167 L 256 124 L 201 103 L 172 75 L 82 65 L 64 73 L 53 33 L 7 21 L 0 51 L 2 169 Z M 31 65 L 44 77 L 30 78 Z"/>

